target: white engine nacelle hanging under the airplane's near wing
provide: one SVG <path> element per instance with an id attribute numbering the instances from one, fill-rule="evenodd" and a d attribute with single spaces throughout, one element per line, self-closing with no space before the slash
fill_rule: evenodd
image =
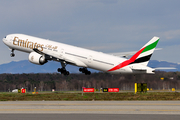
<path id="1" fill-rule="evenodd" d="M 29 61 L 37 65 L 43 65 L 44 63 L 47 63 L 45 57 L 43 57 L 41 54 L 38 54 L 36 52 L 31 52 L 29 54 Z"/>

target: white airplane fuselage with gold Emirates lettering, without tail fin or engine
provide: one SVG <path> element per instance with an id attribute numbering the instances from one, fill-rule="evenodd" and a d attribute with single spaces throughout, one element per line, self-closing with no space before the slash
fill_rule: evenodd
<path id="1" fill-rule="evenodd" d="M 73 65 L 104 72 L 133 73 L 132 67 L 134 67 L 134 65 L 142 69 L 151 69 L 147 66 L 133 64 L 115 71 L 108 71 L 127 59 L 23 34 L 7 35 L 6 38 L 3 38 L 3 42 L 10 49 L 31 53 L 33 52 L 33 48 L 37 48 L 49 56 L 67 61 Z"/>

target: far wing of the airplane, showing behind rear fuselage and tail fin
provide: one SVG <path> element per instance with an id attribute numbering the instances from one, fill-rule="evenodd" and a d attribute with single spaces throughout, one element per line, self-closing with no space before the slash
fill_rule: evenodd
<path id="1" fill-rule="evenodd" d="M 156 48 L 155 50 L 162 50 L 162 48 Z M 119 57 L 125 57 L 127 58 L 128 56 L 134 55 L 137 51 L 131 51 L 131 52 L 119 52 L 119 53 L 110 53 L 111 55 L 114 56 L 119 56 Z"/>

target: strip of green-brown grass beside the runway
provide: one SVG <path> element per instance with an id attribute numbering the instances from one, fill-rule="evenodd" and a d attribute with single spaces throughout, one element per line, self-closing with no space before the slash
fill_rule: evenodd
<path id="1" fill-rule="evenodd" d="M 106 101 L 106 100 L 180 100 L 179 92 L 137 93 L 0 93 L 0 101 Z"/>

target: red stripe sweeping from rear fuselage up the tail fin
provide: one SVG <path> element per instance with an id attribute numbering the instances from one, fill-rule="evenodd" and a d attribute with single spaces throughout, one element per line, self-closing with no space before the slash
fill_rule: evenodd
<path id="1" fill-rule="evenodd" d="M 123 68 L 127 65 L 129 65 L 130 63 L 134 62 L 136 60 L 136 58 L 142 53 L 142 51 L 145 49 L 146 47 L 142 48 L 141 50 L 139 50 L 136 54 L 134 54 L 129 60 L 126 60 L 122 63 L 120 63 L 119 65 L 113 67 L 112 69 L 108 70 L 108 71 L 114 71 L 114 70 L 118 70 L 120 68 Z"/>

